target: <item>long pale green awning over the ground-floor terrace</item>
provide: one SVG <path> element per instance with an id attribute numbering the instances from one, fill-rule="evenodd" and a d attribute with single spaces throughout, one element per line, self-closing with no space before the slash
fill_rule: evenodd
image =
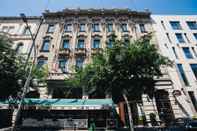
<path id="1" fill-rule="evenodd" d="M 0 101 L 0 105 L 16 104 L 19 101 Z M 113 108 L 112 99 L 35 99 L 35 98 L 25 98 L 23 100 L 23 105 L 25 107 L 47 107 L 51 109 L 58 110 L 74 110 L 74 109 L 109 109 Z"/>

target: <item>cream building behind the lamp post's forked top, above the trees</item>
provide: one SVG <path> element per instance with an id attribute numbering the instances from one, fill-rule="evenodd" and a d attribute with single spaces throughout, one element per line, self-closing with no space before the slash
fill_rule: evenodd
<path id="1" fill-rule="evenodd" d="M 35 35 L 39 24 L 39 17 L 27 17 L 29 28 Z M 0 34 L 9 37 L 20 55 L 27 55 L 32 44 L 32 38 L 26 24 L 20 17 L 0 17 Z"/>

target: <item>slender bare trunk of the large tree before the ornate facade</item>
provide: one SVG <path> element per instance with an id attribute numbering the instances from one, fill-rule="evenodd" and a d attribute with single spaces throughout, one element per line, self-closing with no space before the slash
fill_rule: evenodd
<path id="1" fill-rule="evenodd" d="M 124 98 L 124 100 L 126 102 L 126 105 L 127 105 L 128 116 L 129 116 L 129 128 L 130 128 L 130 131 L 134 131 L 131 107 L 129 105 L 129 101 L 128 101 L 127 96 L 126 96 L 125 93 L 123 93 L 123 98 Z"/>

